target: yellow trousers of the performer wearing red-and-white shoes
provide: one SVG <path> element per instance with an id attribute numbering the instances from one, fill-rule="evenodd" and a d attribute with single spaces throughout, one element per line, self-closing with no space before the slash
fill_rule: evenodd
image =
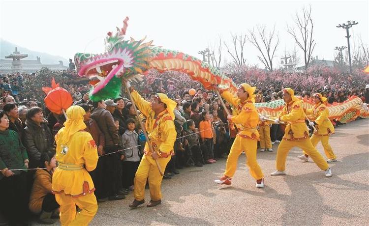
<path id="1" fill-rule="evenodd" d="M 232 177 L 235 174 L 237 169 L 238 157 L 243 151 L 245 151 L 247 157 L 246 165 L 250 170 L 251 176 L 256 180 L 263 178 L 264 174 L 256 161 L 256 149 L 257 140 L 251 140 L 248 138 L 241 138 L 237 136 L 229 152 L 224 175 Z"/>

